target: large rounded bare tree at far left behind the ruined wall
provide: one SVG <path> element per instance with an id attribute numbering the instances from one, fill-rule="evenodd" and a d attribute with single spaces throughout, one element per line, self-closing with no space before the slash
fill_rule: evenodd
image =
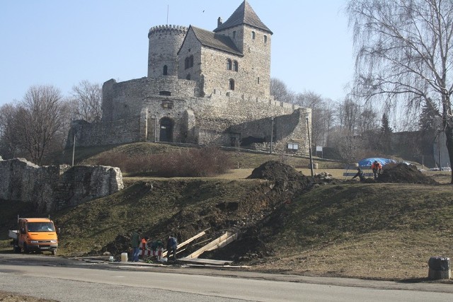
<path id="1" fill-rule="evenodd" d="M 18 105 L 18 142 L 38 165 L 62 127 L 62 94 L 53 86 L 32 86 Z"/>

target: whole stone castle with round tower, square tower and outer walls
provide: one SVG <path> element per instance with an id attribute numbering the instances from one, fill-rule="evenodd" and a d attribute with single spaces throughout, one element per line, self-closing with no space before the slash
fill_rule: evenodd
<path id="1" fill-rule="evenodd" d="M 311 110 L 270 95 L 272 35 L 248 1 L 213 31 L 152 27 L 147 76 L 103 83 L 102 121 L 72 122 L 67 146 L 75 136 L 77 146 L 168 141 L 308 153 Z"/>

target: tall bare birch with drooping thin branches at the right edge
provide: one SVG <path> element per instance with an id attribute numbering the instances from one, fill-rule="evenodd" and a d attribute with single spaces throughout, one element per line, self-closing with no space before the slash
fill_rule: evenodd
<path id="1" fill-rule="evenodd" d="M 355 93 L 428 105 L 453 162 L 453 1 L 350 0 L 346 12 L 357 49 Z"/>

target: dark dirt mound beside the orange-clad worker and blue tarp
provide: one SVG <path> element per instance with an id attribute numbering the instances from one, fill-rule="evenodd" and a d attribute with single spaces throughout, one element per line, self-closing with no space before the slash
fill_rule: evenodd
<path id="1" fill-rule="evenodd" d="M 377 178 L 377 182 L 438 184 L 437 181 L 421 173 L 415 165 L 406 165 L 406 163 L 398 163 L 393 168 L 384 169 Z"/>

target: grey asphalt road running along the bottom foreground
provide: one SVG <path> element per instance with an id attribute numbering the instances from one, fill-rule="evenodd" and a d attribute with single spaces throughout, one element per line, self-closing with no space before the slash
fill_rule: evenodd
<path id="1" fill-rule="evenodd" d="M 91 263 L 46 255 L 0 254 L 0 280 L 0 291 L 57 301 L 453 301 L 453 284 Z"/>

